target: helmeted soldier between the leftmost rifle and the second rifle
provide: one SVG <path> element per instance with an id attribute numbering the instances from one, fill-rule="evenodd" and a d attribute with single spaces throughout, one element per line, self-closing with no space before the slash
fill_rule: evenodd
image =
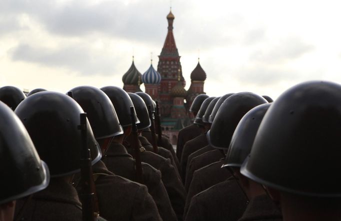
<path id="1" fill-rule="evenodd" d="M 105 155 L 112 138 L 123 133 L 109 97 L 92 86 L 78 86 L 70 91 L 86 112 L 93 135 Z M 146 186 L 114 175 L 101 160 L 93 164 L 92 171 L 102 217 L 107 220 L 161 220 Z"/>

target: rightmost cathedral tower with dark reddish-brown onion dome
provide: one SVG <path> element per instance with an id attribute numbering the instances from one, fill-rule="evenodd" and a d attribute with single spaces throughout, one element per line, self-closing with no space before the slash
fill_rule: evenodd
<path id="1" fill-rule="evenodd" d="M 190 73 L 190 86 L 187 91 L 186 101 L 188 106 L 190 106 L 193 102 L 195 96 L 201 93 L 205 93 L 203 91 L 203 84 L 206 79 L 206 73 L 202 69 L 199 58 L 196 64 L 196 67 Z"/>

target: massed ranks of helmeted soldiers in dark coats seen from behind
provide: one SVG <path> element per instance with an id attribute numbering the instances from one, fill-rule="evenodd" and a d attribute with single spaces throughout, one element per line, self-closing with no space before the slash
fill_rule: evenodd
<path id="1" fill-rule="evenodd" d="M 0 220 L 341 220 L 339 84 L 200 94 L 176 153 L 143 92 L 0 100 Z"/>

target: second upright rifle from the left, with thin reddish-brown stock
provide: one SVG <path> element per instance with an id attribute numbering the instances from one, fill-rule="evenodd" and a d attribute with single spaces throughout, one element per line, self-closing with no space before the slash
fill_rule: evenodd
<path id="1" fill-rule="evenodd" d="M 141 165 L 141 156 L 139 151 L 139 141 L 138 141 L 138 134 L 137 134 L 137 126 L 135 123 L 134 117 L 134 107 L 130 106 L 130 118 L 131 118 L 131 136 L 132 136 L 132 148 L 134 152 L 134 160 L 135 160 L 135 172 L 136 172 L 136 181 L 139 183 L 143 183 L 142 180 L 142 165 Z"/>

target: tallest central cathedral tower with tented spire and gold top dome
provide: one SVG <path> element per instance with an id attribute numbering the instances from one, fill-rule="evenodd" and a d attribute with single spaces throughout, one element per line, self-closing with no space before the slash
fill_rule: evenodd
<path id="1" fill-rule="evenodd" d="M 171 89 L 177 84 L 178 69 L 180 69 L 180 81 L 185 85 L 181 71 L 180 56 L 176 48 L 173 35 L 174 15 L 171 9 L 167 15 L 168 31 L 160 55 L 158 56 L 157 71 L 161 75 L 161 82 L 158 87 L 160 112 L 164 117 L 170 116 L 170 109 L 173 98 L 170 95 Z"/>

